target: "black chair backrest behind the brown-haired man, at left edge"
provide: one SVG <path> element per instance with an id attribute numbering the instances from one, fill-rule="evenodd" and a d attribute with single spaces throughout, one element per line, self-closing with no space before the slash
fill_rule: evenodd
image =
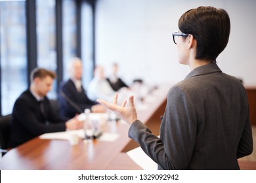
<path id="1" fill-rule="evenodd" d="M 0 152 L 2 156 L 7 152 L 11 133 L 11 114 L 0 117 Z"/>

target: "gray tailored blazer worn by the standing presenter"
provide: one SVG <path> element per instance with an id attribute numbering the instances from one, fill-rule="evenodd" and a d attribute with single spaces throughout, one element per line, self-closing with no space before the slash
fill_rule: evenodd
<path id="1" fill-rule="evenodd" d="M 158 169 L 240 169 L 253 150 L 244 86 L 215 63 L 197 67 L 169 90 L 160 139 L 139 120 L 129 137 Z"/>

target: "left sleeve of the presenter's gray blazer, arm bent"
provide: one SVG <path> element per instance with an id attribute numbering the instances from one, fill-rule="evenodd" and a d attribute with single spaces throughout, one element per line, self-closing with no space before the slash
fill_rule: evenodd
<path id="1" fill-rule="evenodd" d="M 158 163 L 159 169 L 186 169 L 196 143 L 196 112 L 189 94 L 179 87 L 169 91 L 160 138 L 139 121 L 131 125 L 129 137 Z"/>

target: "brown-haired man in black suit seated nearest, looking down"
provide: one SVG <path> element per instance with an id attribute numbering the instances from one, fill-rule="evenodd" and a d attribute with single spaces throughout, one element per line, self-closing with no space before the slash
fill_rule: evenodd
<path id="1" fill-rule="evenodd" d="M 51 90 L 56 74 L 36 68 L 31 73 L 31 85 L 14 103 L 11 122 L 10 147 L 14 148 L 43 133 L 82 129 L 77 118 L 66 121 L 54 114 L 47 93 Z"/>

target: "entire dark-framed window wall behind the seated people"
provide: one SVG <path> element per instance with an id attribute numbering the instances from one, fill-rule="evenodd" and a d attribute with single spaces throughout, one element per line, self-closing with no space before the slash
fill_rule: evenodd
<path id="1" fill-rule="evenodd" d="M 85 86 L 93 76 L 95 0 L 0 0 L 0 115 L 11 114 L 14 102 L 30 84 L 34 67 L 56 72 L 50 99 L 68 78 L 70 58 L 83 61 Z"/>

